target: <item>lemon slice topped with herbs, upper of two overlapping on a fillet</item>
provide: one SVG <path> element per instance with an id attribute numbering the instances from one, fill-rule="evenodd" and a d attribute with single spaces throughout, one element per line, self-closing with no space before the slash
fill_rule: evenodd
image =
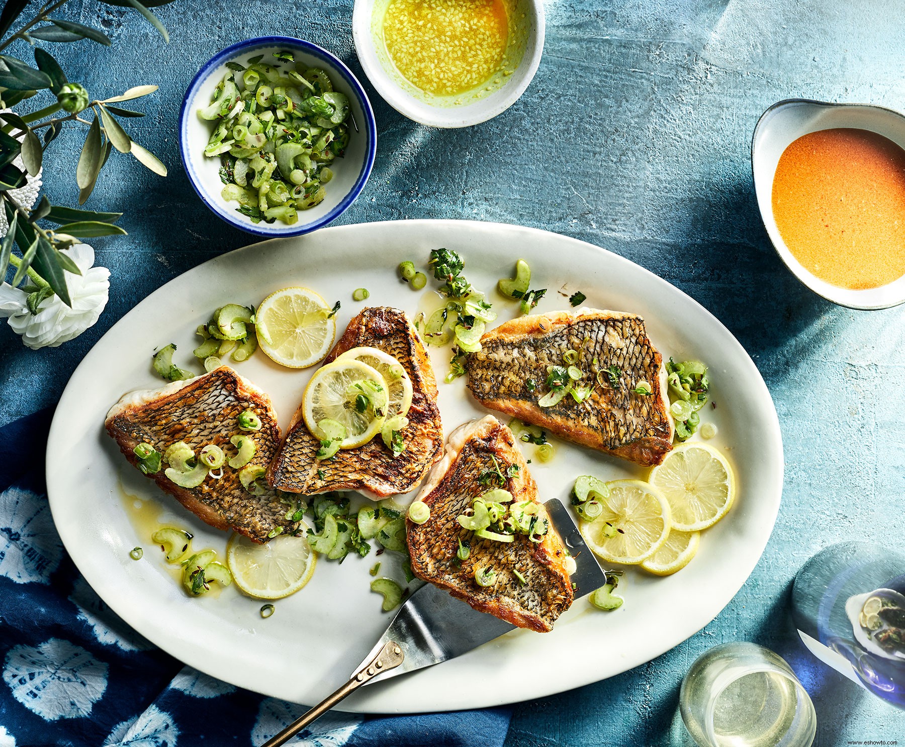
<path id="1" fill-rule="evenodd" d="M 315 436 L 322 439 L 318 423 L 337 421 L 346 426 L 340 449 L 355 449 L 373 439 L 383 427 L 388 402 L 384 377 L 354 358 L 338 358 L 319 369 L 305 388 L 302 417 Z M 359 411 L 359 395 L 369 402 Z"/>

